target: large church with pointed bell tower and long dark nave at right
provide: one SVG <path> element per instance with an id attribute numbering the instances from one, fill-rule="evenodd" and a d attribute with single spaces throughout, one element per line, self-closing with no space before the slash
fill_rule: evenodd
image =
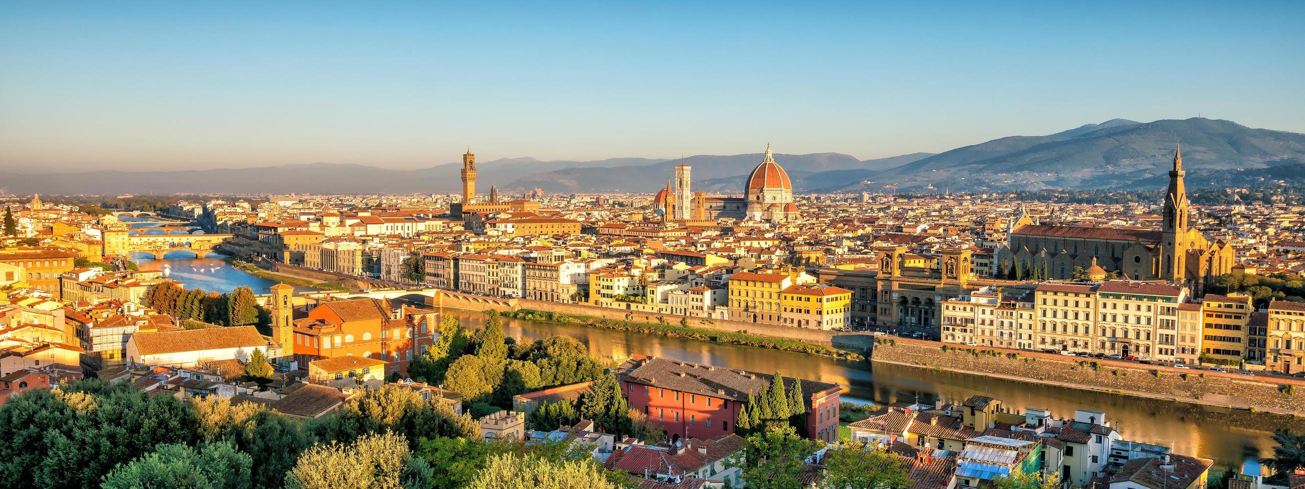
<path id="1" fill-rule="evenodd" d="M 996 250 L 996 275 L 1010 279 L 1070 279 L 1074 269 L 1096 267 L 1120 278 L 1167 280 L 1195 293 L 1232 271 L 1231 245 L 1208 241 L 1190 226 L 1182 149 L 1173 154 L 1160 230 L 1036 224 L 1021 209 L 1007 243 Z"/>

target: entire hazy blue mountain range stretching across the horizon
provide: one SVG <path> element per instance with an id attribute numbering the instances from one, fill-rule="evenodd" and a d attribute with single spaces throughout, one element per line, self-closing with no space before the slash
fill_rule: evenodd
<path id="1" fill-rule="evenodd" d="M 1047 136 L 1011 136 L 940 154 L 860 160 L 840 153 L 775 154 L 795 192 L 1013 190 L 1158 188 L 1182 145 L 1191 186 L 1305 181 L 1305 134 L 1211 119 L 1138 123 L 1113 119 Z M 655 192 L 673 167 L 693 167 L 696 189 L 740 193 L 762 154 L 590 162 L 505 158 L 479 162 L 478 189 L 506 194 Z M 459 189 L 462 163 L 386 170 L 352 163 L 283 164 L 192 171 L 0 172 L 0 193 L 446 193 Z"/>

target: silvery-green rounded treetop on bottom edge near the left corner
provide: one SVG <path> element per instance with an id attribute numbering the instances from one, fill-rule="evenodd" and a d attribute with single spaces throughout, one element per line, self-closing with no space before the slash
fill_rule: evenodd
<path id="1" fill-rule="evenodd" d="M 103 489 L 245 489 L 253 459 L 230 442 L 159 445 L 154 452 L 117 466 L 104 476 Z"/>

